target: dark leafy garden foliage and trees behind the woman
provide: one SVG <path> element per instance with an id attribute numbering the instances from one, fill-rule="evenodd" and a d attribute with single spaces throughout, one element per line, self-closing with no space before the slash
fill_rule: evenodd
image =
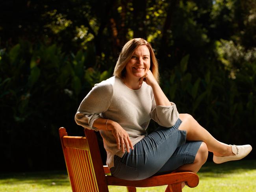
<path id="1" fill-rule="evenodd" d="M 58 128 L 83 135 L 80 102 L 135 37 L 155 49 L 161 87 L 180 113 L 218 140 L 254 148 L 254 0 L 8 0 L 0 2 L 1 171 L 65 169 Z"/>

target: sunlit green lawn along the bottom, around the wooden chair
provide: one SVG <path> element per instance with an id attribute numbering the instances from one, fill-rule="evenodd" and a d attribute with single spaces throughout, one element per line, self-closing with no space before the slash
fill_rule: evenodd
<path id="1" fill-rule="evenodd" d="M 207 162 L 198 172 L 196 188 L 184 192 L 254 192 L 256 191 L 256 160 L 224 164 Z M 138 192 L 163 192 L 165 186 L 137 188 Z M 109 186 L 110 192 L 126 192 L 125 187 Z M 31 172 L 0 175 L 0 192 L 71 192 L 66 172 Z"/>

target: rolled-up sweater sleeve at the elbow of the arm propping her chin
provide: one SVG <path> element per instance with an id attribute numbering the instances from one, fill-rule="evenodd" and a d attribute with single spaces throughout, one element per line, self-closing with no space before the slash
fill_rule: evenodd
<path id="1" fill-rule="evenodd" d="M 150 117 L 160 126 L 174 126 L 179 118 L 179 113 L 177 111 L 176 105 L 173 102 L 171 102 L 171 104 L 171 106 L 156 105 L 156 102 L 153 98 L 152 111 L 150 112 Z"/>

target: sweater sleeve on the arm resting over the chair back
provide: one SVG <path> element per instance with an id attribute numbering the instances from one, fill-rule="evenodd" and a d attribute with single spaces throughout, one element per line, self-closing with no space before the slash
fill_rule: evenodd
<path id="1" fill-rule="evenodd" d="M 93 127 L 93 123 L 101 117 L 101 113 L 108 110 L 112 96 L 113 86 L 110 83 L 102 81 L 99 84 L 95 84 L 93 89 L 85 96 L 76 112 L 76 124 L 98 131 L 96 127 Z"/>

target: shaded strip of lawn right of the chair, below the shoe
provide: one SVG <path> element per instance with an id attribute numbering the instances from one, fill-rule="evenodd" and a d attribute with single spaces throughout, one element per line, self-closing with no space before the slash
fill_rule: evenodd
<path id="1" fill-rule="evenodd" d="M 229 161 L 222 164 L 206 162 L 198 174 L 203 177 L 224 177 L 227 174 L 242 174 L 250 170 L 256 170 L 256 160 Z"/>

